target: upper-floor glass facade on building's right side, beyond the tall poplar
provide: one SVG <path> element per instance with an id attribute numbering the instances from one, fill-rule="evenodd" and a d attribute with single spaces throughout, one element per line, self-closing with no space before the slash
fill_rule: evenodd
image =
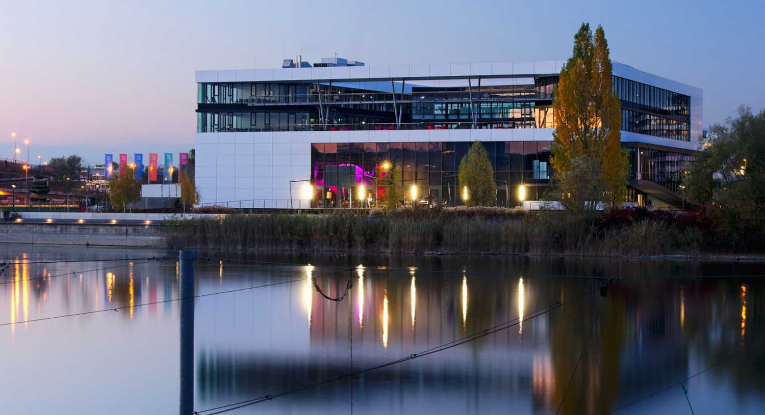
<path id="1" fill-rule="evenodd" d="M 622 130 L 690 141 L 691 97 L 614 76 L 621 100 Z"/>

